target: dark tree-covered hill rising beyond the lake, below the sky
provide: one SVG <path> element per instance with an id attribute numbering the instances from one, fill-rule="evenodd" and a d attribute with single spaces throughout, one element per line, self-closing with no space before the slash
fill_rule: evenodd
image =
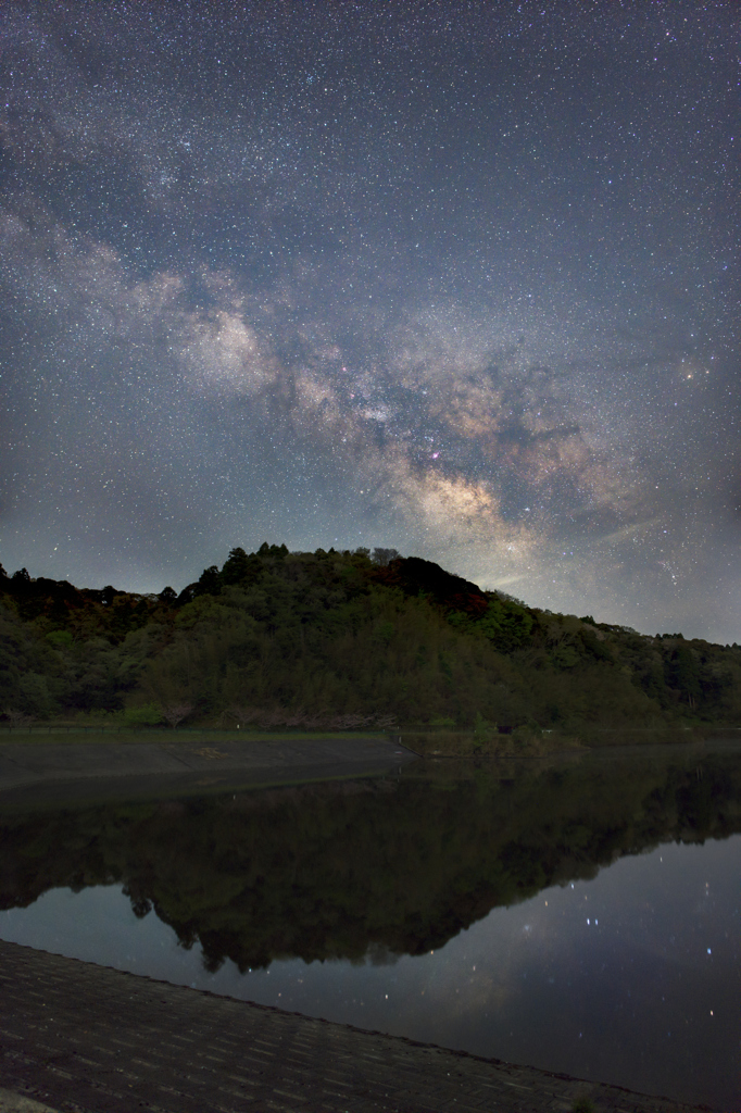
<path id="1" fill-rule="evenodd" d="M 234 549 L 178 595 L 0 567 L 6 722 L 656 729 L 741 722 L 741 649 L 483 591 L 394 551 Z"/>

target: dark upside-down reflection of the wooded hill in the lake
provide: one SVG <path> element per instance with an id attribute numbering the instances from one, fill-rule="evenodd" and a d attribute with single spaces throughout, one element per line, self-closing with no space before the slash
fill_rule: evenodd
<path id="1" fill-rule="evenodd" d="M 122 881 L 210 969 L 389 962 L 623 854 L 738 830 L 732 754 L 427 762 L 397 780 L 6 817 L 0 903 Z"/>

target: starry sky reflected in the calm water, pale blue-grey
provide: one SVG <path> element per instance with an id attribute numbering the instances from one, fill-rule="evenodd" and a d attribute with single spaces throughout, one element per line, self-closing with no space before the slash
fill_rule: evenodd
<path id="1" fill-rule="evenodd" d="M 0 936 L 214 993 L 729 1107 L 741 1094 L 741 836 L 622 858 L 419 957 L 204 971 L 120 886 L 47 893 Z"/>

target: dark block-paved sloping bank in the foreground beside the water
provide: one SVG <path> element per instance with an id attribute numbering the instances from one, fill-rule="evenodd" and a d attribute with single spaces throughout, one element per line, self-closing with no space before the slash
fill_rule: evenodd
<path id="1" fill-rule="evenodd" d="M 597 1113 L 698 1109 L 11 943 L 0 1001 L 0 1086 L 59 1113 L 567 1113 L 586 1096 Z"/>

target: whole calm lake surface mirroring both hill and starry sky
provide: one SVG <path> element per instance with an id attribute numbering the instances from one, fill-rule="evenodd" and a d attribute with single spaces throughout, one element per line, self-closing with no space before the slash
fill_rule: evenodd
<path id="1" fill-rule="evenodd" d="M 720 1107 L 741 748 L 0 814 L 0 937 Z"/>

